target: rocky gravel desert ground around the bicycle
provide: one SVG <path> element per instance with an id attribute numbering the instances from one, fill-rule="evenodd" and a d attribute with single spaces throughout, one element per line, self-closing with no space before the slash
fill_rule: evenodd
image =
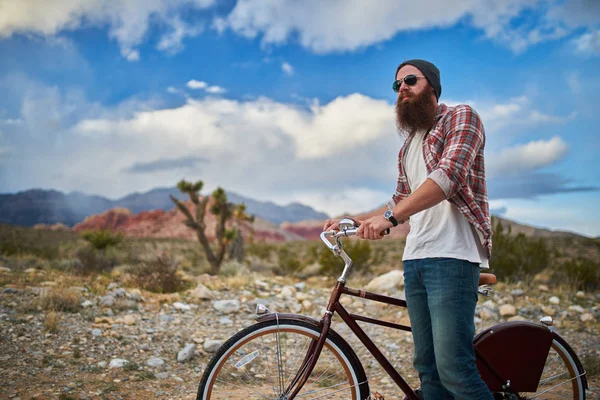
<path id="1" fill-rule="evenodd" d="M 219 283 L 221 278 L 201 276 L 198 288 L 174 295 L 121 288 L 117 279 L 103 293 L 92 293 L 53 279 L 39 286 L 15 279 L 19 283 L 0 287 L 1 399 L 194 399 L 214 341 L 252 324 L 257 303 L 319 318 L 330 292 L 322 282 L 313 286 L 273 277 L 252 277 L 232 288 Z M 401 283 L 396 287 L 387 291 L 402 296 Z M 76 294 L 74 312 L 44 309 L 44 299 L 65 292 Z M 594 388 L 600 373 L 599 303 L 600 293 L 498 285 L 491 297 L 480 298 L 476 325 L 481 330 L 503 320 L 538 321 L 552 314 L 561 335 L 587 360 Z M 404 309 L 357 298 L 344 298 L 343 304 L 360 314 L 408 323 Z M 410 333 L 362 326 L 408 382 L 418 385 Z M 339 320 L 333 327 L 357 350 L 371 389 L 387 400 L 402 399 L 349 328 Z M 600 398 L 600 391 L 588 392 L 588 398 Z"/>

